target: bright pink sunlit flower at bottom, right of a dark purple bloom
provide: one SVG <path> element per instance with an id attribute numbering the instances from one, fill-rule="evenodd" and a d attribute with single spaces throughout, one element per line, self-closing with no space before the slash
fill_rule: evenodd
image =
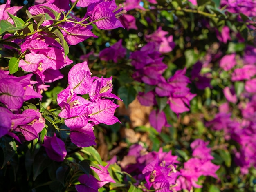
<path id="1" fill-rule="evenodd" d="M 110 176 L 109 172 L 108 172 L 108 166 L 103 167 L 102 165 L 98 165 L 101 169 L 98 169 L 96 167 L 90 167 L 92 170 L 94 170 L 94 172 L 97 173 L 97 175 L 99 176 L 99 179 L 101 181 L 97 181 L 98 183 L 98 188 L 101 188 L 103 185 L 111 182 L 111 183 L 116 183 L 114 181 L 114 179 L 112 179 L 112 177 Z"/>

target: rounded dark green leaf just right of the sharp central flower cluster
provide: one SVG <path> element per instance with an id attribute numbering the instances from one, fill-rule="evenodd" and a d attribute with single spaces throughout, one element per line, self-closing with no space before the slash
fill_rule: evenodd
<path id="1" fill-rule="evenodd" d="M 136 90 L 132 86 L 121 86 L 117 91 L 118 96 L 123 100 L 126 108 L 136 97 Z"/>

